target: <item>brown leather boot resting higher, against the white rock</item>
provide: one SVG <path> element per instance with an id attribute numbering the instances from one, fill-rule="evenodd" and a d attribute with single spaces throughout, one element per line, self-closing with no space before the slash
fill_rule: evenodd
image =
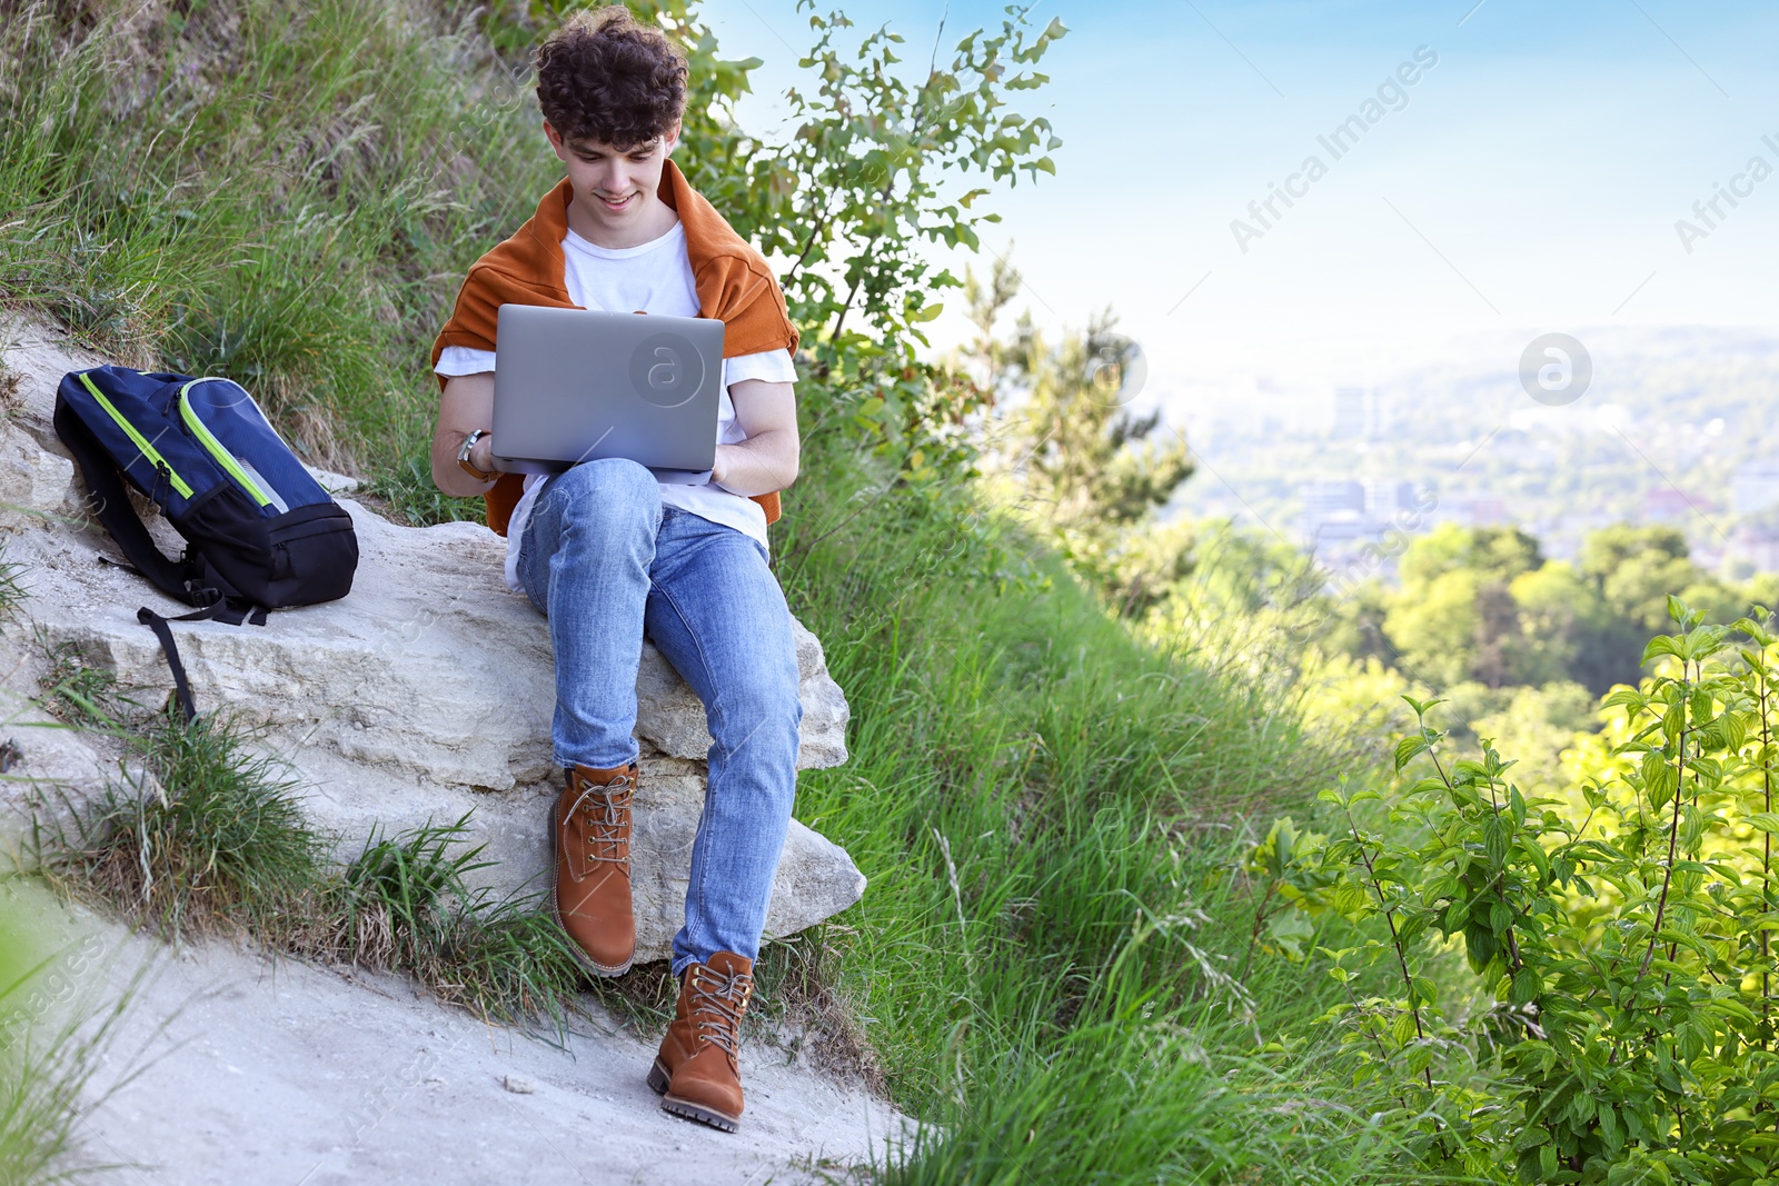
<path id="1" fill-rule="evenodd" d="M 630 802 L 637 763 L 598 770 L 573 766 L 550 813 L 555 846 L 557 925 L 596 976 L 623 976 L 637 953 L 630 905 Z"/>

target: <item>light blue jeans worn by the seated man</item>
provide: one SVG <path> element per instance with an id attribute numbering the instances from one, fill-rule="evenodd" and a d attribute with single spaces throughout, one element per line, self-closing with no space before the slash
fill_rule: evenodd
<path id="1" fill-rule="evenodd" d="M 642 638 L 704 702 L 710 782 L 692 841 L 672 973 L 717 951 L 760 955 L 797 793 L 797 644 L 767 549 L 664 507 L 633 461 L 587 461 L 537 493 L 519 581 L 550 619 L 555 759 L 635 761 Z"/>

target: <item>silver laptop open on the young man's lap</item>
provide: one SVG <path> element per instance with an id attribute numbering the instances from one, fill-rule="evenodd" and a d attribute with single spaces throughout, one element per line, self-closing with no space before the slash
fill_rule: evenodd
<path id="1" fill-rule="evenodd" d="M 722 322 L 503 304 L 495 345 L 496 469 L 628 457 L 658 482 L 710 480 Z"/>

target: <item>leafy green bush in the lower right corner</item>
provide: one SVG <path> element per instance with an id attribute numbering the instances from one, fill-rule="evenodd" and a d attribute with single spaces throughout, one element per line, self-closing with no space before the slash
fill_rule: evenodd
<path id="1" fill-rule="evenodd" d="M 1414 1117 L 1430 1168 L 1779 1181 L 1779 637 L 1669 610 L 1678 633 L 1642 656 L 1658 674 L 1605 699 L 1615 743 L 1573 797 L 1523 795 L 1487 740 L 1480 759 L 1443 757 L 1420 702 L 1397 766 L 1425 757 L 1432 773 L 1388 804 L 1388 825 L 1364 809 L 1375 789 L 1325 795 L 1338 832 L 1295 900 L 1381 921 L 1325 955 L 1336 980 L 1364 966 L 1395 980 L 1327 1021 L 1359 1078 Z M 1434 980 L 1452 944 L 1475 1003 Z"/>

